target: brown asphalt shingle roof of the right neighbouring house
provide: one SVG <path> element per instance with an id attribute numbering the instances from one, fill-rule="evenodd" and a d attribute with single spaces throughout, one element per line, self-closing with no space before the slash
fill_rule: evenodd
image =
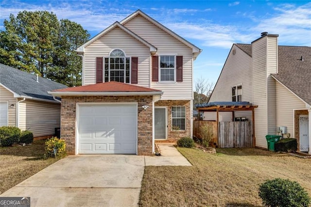
<path id="1" fill-rule="evenodd" d="M 252 45 L 235 45 L 252 56 Z M 311 104 L 311 47 L 278 46 L 277 72 L 271 75 L 306 103 Z"/>

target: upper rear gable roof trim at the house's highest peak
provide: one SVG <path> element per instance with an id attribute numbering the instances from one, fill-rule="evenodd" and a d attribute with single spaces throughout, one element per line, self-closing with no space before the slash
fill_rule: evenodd
<path id="1" fill-rule="evenodd" d="M 140 11 L 139 9 L 136 12 L 134 12 L 133 14 L 131 14 L 130 16 L 123 19 L 120 23 L 122 25 L 124 25 L 126 22 L 128 22 L 132 18 L 136 17 L 137 15 L 140 15 L 140 16 L 146 18 L 148 21 L 152 22 L 153 24 L 155 24 L 157 27 L 159 27 L 163 31 L 167 32 L 168 34 L 170 34 L 173 37 L 175 37 L 176 39 L 178 39 L 180 42 L 182 42 L 185 45 L 187 45 L 188 47 L 190 47 L 192 49 L 193 54 L 194 54 L 194 58 L 196 58 L 202 52 L 202 50 L 200 48 L 196 47 L 195 45 L 193 45 L 192 43 L 190 43 L 188 40 L 184 39 L 183 37 L 177 35 L 172 30 L 170 30 L 167 27 L 165 27 L 164 25 L 160 24 L 155 19 L 149 17 L 148 15 L 146 15 L 145 13 Z"/>

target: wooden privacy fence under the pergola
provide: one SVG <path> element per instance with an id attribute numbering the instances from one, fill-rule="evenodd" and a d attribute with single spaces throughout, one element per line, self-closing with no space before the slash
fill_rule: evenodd
<path id="1" fill-rule="evenodd" d="M 217 141 L 216 121 L 193 121 L 193 135 L 200 136 L 200 126 L 212 125 L 214 142 L 219 148 L 253 147 L 251 121 L 220 121 L 218 124 Z"/>

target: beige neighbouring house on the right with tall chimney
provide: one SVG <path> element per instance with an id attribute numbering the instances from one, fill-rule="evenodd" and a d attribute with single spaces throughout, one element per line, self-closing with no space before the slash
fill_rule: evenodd
<path id="1" fill-rule="evenodd" d="M 250 102 L 255 109 L 256 146 L 265 136 L 290 133 L 300 152 L 311 154 L 311 47 L 278 46 L 278 35 L 262 33 L 251 44 L 233 44 L 209 102 Z M 234 118 L 252 120 L 250 111 Z M 215 120 L 205 112 L 205 120 Z M 220 112 L 219 121 L 233 121 Z"/>

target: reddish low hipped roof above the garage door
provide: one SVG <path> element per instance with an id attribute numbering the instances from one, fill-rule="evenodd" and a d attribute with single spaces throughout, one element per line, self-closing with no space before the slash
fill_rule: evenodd
<path id="1" fill-rule="evenodd" d="M 50 94 L 57 95 L 161 95 L 161 90 L 135 86 L 131 84 L 110 81 L 87 86 L 69 87 L 58 90 L 49 91 Z"/>

